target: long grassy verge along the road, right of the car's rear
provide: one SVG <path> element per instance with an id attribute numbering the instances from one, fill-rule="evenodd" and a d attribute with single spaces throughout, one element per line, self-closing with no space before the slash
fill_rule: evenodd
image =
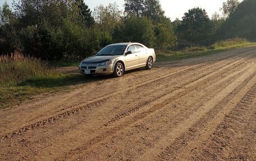
<path id="1" fill-rule="evenodd" d="M 210 47 L 191 47 L 181 50 L 179 52 L 160 52 L 157 54 L 157 62 L 175 61 L 185 58 L 194 58 L 200 56 L 206 56 L 211 54 L 217 54 L 225 52 L 231 49 L 250 47 L 256 45 L 256 43 L 250 43 L 246 39 L 234 38 L 222 40 L 212 44 Z"/>

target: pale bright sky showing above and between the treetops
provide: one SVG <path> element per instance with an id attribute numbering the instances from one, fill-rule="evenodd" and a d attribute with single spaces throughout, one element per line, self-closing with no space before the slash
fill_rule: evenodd
<path id="1" fill-rule="evenodd" d="M 10 4 L 13 0 L 6 0 L 7 3 Z M 85 4 L 87 4 L 91 11 L 93 11 L 94 7 L 99 6 L 99 4 L 103 4 L 103 6 L 107 6 L 109 3 L 117 3 L 119 9 L 124 11 L 124 0 L 84 0 Z M 214 12 L 220 12 L 220 8 L 222 7 L 222 3 L 226 2 L 226 0 L 159 0 L 162 5 L 162 9 L 165 12 L 165 15 L 169 17 L 172 21 L 176 18 L 182 19 L 182 16 L 185 12 L 188 12 L 189 9 L 194 7 L 200 7 L 206 10 L 208 16 L 211 18 Z M 0 0 L 0 5 L 4 3 L 4 0 Z"/>

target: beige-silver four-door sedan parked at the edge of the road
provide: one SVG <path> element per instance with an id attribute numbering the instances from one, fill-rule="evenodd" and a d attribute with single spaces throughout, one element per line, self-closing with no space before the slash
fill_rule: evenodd
<path id="1" fill-rule="evenodd" d="M 97 54 L 81 61 L 79 70 L 85 75 L 111 75 L 121 77 L 125 71 L 145 67 L 151 69 L 156 61 L 154 49 L 140 43 L 107 45 Z"/>

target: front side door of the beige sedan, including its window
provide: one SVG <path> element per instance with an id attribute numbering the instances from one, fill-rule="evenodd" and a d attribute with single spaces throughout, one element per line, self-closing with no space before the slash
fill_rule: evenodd
<path id="1" fill-rule="evenodd" d="M 136 68 L 139 66 L 139 57 L 136 53 L 136 49 L 134 45 L 130 45 L 130 47 L 127 48 L 126 52 L 131 51 L 130 54 L 127 54 L 125 56 L 125 69 L 130 70 L 132 68 Z"/>

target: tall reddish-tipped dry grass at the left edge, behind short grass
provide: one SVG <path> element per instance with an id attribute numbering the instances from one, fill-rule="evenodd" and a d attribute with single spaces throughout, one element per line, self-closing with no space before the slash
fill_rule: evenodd
<path id="1" fill-rule="evenodd" d="M 0 84 L 17 83 L 33 77 L 46 75 L 47 66 L 34 57 L 16 51 L 0 56 Z"/>

